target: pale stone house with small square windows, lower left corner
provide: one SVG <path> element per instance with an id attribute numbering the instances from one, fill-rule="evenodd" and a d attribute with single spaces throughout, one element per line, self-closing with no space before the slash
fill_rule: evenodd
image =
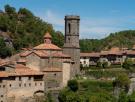
<path id="1" fill-rule="evenodd" d="M 44 74 L 16 64 L 14 71 L 0 71 L 0 102 L 24 102 L 44 95 Z"/>

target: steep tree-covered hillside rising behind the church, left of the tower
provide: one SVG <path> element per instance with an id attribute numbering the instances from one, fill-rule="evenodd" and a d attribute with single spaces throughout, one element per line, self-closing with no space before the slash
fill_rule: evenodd
<path id="1" fill-rule="evenodd" d="M 4 40 L 5 36 L 10 37 L 13 43 L 13 49 L 10 49 L 11 53 L 42 43 L 43 35 L 47 31 L 52 34 L 54 44 L 63 46 L 63 34 L 55 31 L 51 24 L 36 17 L 28 9 L 20 8 L 16 11 L 14 7 L 5 5 L 4 10 L 0 10 L 0 37 Z M 1 42 L 3 41 L 1 40 Z M 0 52 L 0 57 L 3 54 L 6 55 L 6 53 Z"/>

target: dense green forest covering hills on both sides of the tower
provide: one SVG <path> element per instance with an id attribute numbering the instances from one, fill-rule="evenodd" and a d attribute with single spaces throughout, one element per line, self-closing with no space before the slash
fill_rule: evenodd
<path id="1" fill-rule="evenodd" d="M 10 56 L 21 48 L 32 48 L 42 43 L 42 37 L 47 31 L 52 35 L 53 43 L 62 47 L 64 36 L 60 31 L 55 31 L 50 23 L 36 17 L 26 8 L 17 11 L 14 7 L 5 5 L 4 10 L 0 10 L 0 57 Z M 1 33 L 12 39 L 13 48 L 5 47 Z M 111 33 L 103 39 L 80 40 L 81 52 L 101 51 L 113 46 L 131 48 L 133 44 L 135 44 L 135 30 Z"/>

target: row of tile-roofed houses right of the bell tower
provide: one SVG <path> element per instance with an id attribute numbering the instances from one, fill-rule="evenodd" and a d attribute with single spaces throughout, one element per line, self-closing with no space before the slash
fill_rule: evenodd
<path id="1" fill-rule="evenodd" d="M 118 65 L 122 64 L 126 58 L 130 58 L 133 62 L 135 62 L 135 46 L 132 48 L 132 50 L 113 47 L 107 51 L 80 53 L 80 55 L 80 63 L 83 66 L 96 65 L 98 61 Z"/>

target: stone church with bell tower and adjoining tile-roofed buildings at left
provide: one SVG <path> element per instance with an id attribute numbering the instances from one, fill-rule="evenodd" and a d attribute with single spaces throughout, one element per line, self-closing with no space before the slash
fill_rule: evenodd
<path id="1" fill-rule="evenodd" d="M 14 102 L 22 102 L 17 98 L 29 99 L 37 93 L 61 89 L 79 74 L 79 21 L 79 16 L 65 16 L 63 48 L 54 45 L 51 34 L 45 32 L 44 43 L 22 51 L 16 61 L 0 63 L 0 86 L 4 84 L 0 102 L 11 102 L 13 98 Z"/>

